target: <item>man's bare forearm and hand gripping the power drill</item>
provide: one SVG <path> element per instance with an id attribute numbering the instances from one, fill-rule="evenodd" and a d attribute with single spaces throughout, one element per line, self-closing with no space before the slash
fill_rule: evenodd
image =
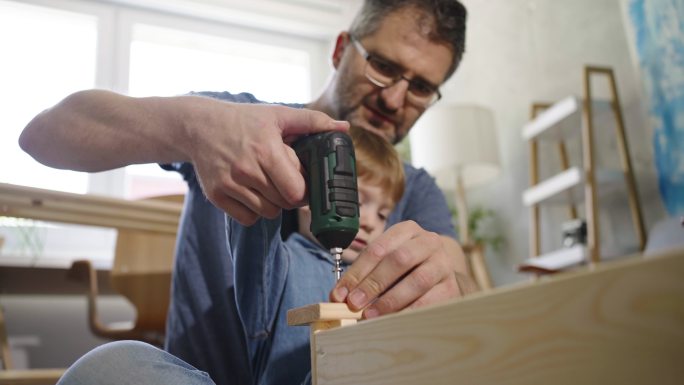
<path id="1" fill-rule="evenodd" d="M 47 166 L 77 171 L 192 162 L 209 200 L 250 225 L 304 201 L 305 181 L 289 143 L 348 128 L 312 110 L 89 90 L 36 116 L 19 143 Z"/>

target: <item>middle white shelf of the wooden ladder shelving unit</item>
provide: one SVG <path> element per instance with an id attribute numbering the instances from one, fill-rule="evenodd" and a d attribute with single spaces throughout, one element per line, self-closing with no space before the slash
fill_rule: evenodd
<path id="1" fill-rule="evenodd" d="M 523 192 L 523 204 L 577 204 L 584 201 L 584 170 L 571 167 L 559 174 L 532 186 Z M 597 170 L 597 194 L 607 197 L 613 194 L 627 194 L 622 171 Z"/>

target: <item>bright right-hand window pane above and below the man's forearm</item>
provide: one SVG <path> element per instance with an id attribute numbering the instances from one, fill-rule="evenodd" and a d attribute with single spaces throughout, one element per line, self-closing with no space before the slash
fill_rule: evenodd
<path id="1" fill-rule="evenodd" d="M 135 23 L 130 46 L 131 96 L 189 91 L 249 91 L 277 102 L 310 100 L 309 54 L 251 41 Z M 156 165 L 126 167 L 126 197 L 183 191 L 178 174 Z"/>

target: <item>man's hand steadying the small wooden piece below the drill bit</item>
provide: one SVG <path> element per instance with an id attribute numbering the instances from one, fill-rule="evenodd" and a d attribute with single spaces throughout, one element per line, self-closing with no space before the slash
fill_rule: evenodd
<path id="1" fill-rule="evenodd" d="M 368 306 L 363 315 L 373 318 L 462 296 L 473 287 L 467 275 L 455 272 L 465 257 L 444 238 L 413 221 L 390 227 L 361 252 L 330 300 L 352 310 Z"/>

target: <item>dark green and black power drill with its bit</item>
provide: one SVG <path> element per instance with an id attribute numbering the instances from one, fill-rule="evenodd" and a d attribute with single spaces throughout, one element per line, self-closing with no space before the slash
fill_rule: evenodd
<path id="1" fill-rule="evenodd" d="M 293 145 L 304 170 L 311 208 L 311 233 L 335 261 L 339 281 L 342 250 L 359 231 L 359 194 L 352 140 L 339 131 L 298 139 Z"/>

